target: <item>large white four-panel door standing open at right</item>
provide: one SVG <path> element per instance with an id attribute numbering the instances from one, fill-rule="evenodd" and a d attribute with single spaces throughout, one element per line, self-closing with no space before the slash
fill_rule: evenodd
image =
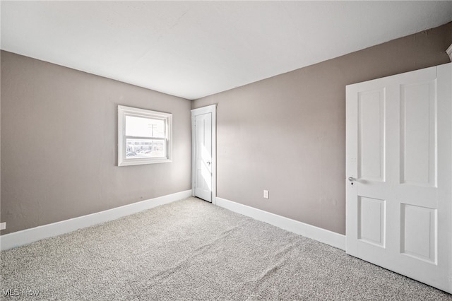
<path id="1" fill-rule="evenodd" d="M 452 64 L 347 85 L 347 253 L 452 293 Z"/>

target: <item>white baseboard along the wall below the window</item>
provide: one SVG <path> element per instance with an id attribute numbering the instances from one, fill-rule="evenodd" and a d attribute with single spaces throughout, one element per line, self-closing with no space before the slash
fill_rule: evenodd
<path id="1" fill-rule="evenodd" d="M 38 240 L 42 240 L 47 237 L 61 235 L 81 228 L 105 223 L 109 220 L 116 220 L 117 218 L 121 218 L 123 216 L 129 216 L 133 213 L 164 205 L 165 203 L 179 201 L 180 199 L 185 199 L 189 196 L 191 196 L 191 189 L 88 214 L 87 216 L 79 216 L 78 218 L 71 218 L 57 223 L 41 225 L 35 228 L 8 233 L 0 236 L 0 249 L 6 250 L 14 247 L 20 247 L 24 244 L 37 242 Z"/>

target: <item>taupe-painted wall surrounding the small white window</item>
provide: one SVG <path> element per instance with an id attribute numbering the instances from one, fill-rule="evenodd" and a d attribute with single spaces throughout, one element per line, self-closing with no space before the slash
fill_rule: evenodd
<path id="1" fill-rule="evenodd" d="M 173 162 L 117 167 L 117 105 L 173 114 Z M 1 52 L 1 222 L 15 232 L 191 189 L 191 102 Z"/>

